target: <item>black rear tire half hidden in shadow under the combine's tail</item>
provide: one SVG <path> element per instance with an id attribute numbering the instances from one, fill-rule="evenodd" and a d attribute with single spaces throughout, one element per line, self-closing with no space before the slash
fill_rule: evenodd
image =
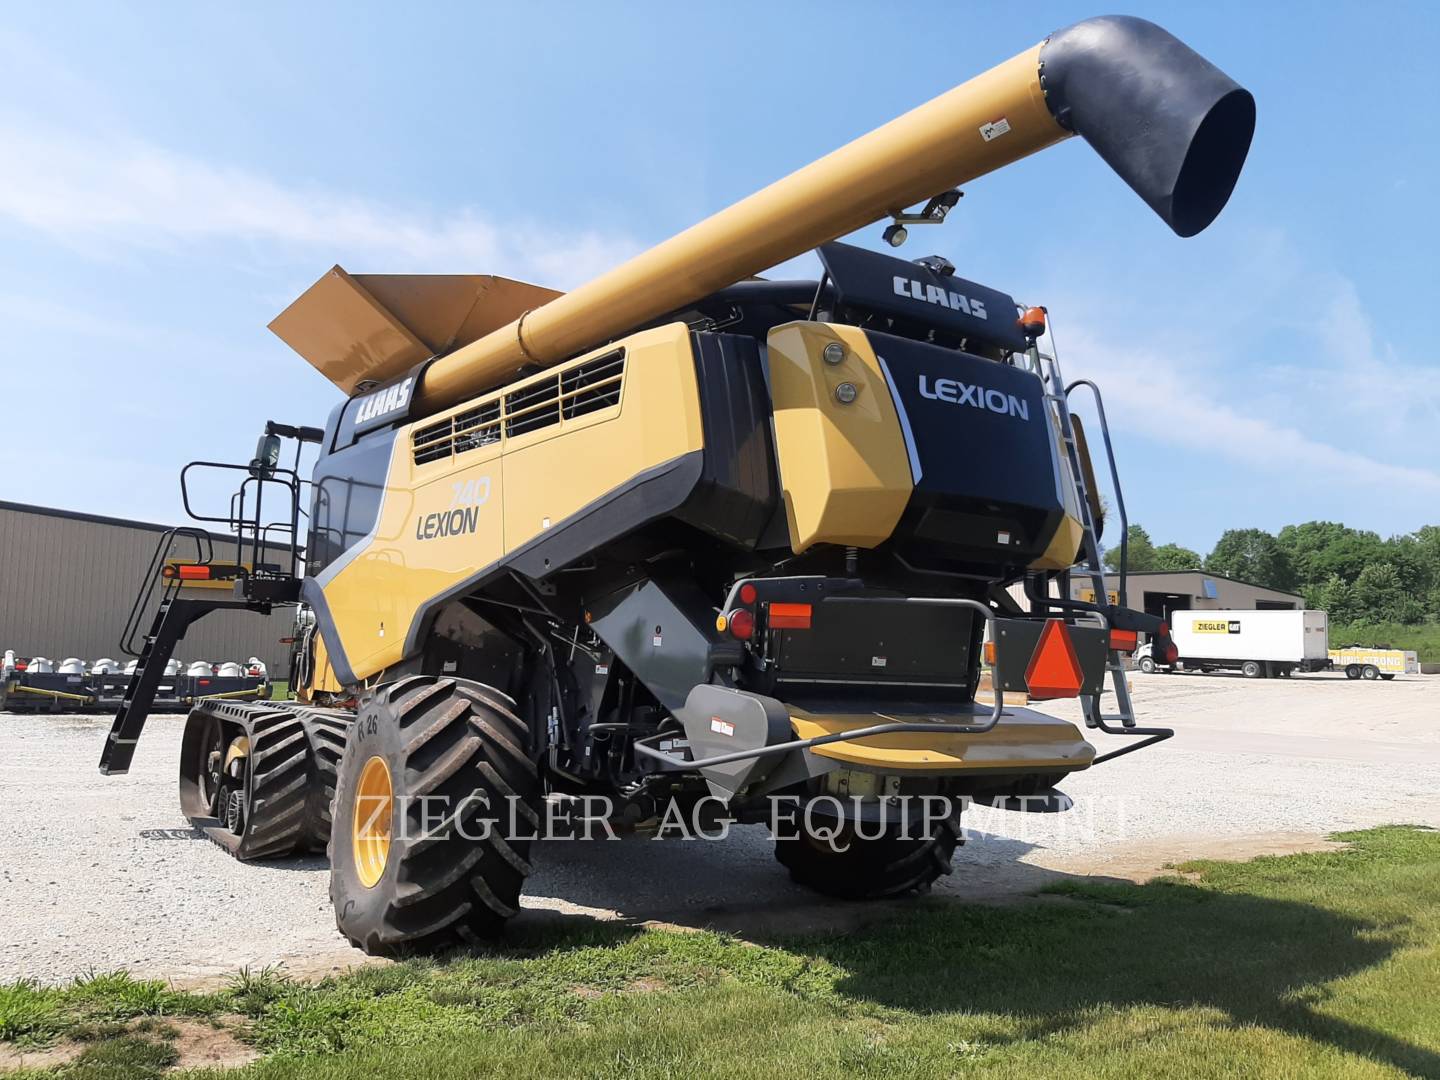
<path id="1" fill-rule="evenodd" d="M 791 871 L 798 884 L 841 900 L 881 900 L 923 893 L 953 865 L 950 858 L 960 842 L 960 811 L 933 822 L 929 835 L 912 828 L 887 829 L 878 838 L 861 838 L 854 827 L 841 825 L 834 844 L 811 835 L 796 821 L 785 825 L 775 838 L 775 858 Z M 867 835 L 874 827 L 864 828 Z"/>

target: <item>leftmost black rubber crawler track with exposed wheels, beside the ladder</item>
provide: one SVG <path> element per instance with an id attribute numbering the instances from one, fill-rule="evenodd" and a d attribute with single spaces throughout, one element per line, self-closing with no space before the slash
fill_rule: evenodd
<path id="1" fill-rule="evenodd" d="M 239 860 L 294 854 L 307 840 L 308 759 L 288 708 L 196 706 L 180 743 L 180 808 Z"/>

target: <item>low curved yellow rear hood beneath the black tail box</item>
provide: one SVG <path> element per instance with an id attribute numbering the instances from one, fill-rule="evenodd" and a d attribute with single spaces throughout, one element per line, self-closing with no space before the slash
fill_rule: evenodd
<path id="1" fill-rule="evenodd" d="M 972 713 L 932 716 L 940 723 L 978 723 Z M 901 717 L 880 713 L 816 714 L 791 707 L 791 726 L 798 739 L 850 732 Z M 906 720 L 914 717 L 903 717 Z M 1058 772 L 1084 769 L 1094 747 L 1080 729 L 1028 708 L 1014 708 L 984 734 L 927 732 L 874 736 L 857 742 L 816 746 L 811 753 L 832 757 L 874 772 L 960 773 L 972 770 Z"/>

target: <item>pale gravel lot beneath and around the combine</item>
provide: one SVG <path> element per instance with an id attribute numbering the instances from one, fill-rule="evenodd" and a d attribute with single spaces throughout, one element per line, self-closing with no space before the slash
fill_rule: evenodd
<path id="1" fill-rule="evenodd" d="M 1133 687 L 1145 721 L 1176 737 L 1073 776 L 1067 814 L 972 809 L 937 896 L 1005 900 L 1066 874 L 1143 878 L 1184 858 L 1316 847 L 1335 829 L 1440 827 L 1440 678 L 1136 674 Z M 0 714 L 0 982 L 130 968 L 203 985 L 246 965 L 312 975 L 361 959 L 336 933 L 324 860 L 242 865 L 189 828 L 174 789 L 183 717 L 154 717 L 118 778 L 95 769 L 108 724 Z M 523 920 L 746 933 L 884 913 L 791 884 L 759 827 L 720 844 L 550 841 L 536 861 Z"/>

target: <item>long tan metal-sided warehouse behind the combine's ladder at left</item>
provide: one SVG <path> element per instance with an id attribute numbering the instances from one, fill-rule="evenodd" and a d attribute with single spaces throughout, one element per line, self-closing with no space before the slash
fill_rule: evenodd
<path id="1" fill-rule="evenodd" d="M 0 501 L 0 652 L 79 657 L 94 662 L 120 651 L 135 593 L 166 526 L 96 517 L 69 510 Z M 166 557 L 193 559 L 194 544 L 177 541 Z M 219 544 L 216 557 L 225 557 Z M 265 616 L 223 611 L 190 626 L 176 647 L 183 661 L 245 661 L 259 657 L 284 678 L 294 612 Z M 141 635 L 150 626 L 147 613 Z"/>

